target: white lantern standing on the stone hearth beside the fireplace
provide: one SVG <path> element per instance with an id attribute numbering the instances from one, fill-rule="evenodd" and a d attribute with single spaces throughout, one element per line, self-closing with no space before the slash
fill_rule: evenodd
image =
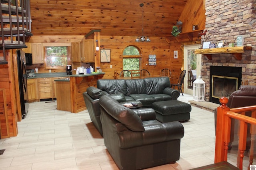
<path id="1" fill-rule="evenodd" d="M 193 100 L 196 102 L 204 102 L 204 90 L 205 82 L 202 80 L 201 76 L 193 82 Z"/>

